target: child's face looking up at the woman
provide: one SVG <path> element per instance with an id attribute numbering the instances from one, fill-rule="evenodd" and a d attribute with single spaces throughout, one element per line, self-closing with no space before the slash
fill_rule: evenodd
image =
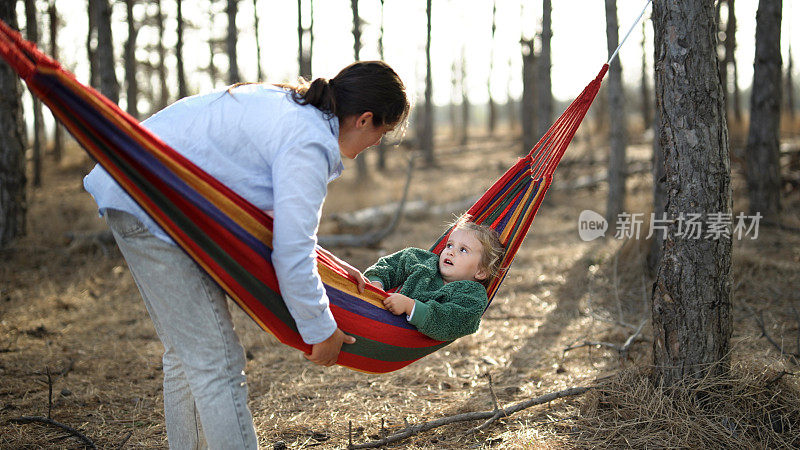
<path id="1" fill-rule="evenodd" d="M 445 282 L 486 279 L 486 270 L 480 267 L 483 246 L 469 230 L 456 228 L 447 238 L 439 255 L 439 272 Z"/>

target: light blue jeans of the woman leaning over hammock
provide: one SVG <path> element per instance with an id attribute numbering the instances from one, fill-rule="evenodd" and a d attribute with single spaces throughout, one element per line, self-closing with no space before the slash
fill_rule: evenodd
<path id="1" fill-rule="evenodd" d="M 108 210 L 106 221 L 164 344 L 170 447 L 257 448 L 244 350 L 225 293 L 180 248 L 150 234 L 136 217 Z"/>

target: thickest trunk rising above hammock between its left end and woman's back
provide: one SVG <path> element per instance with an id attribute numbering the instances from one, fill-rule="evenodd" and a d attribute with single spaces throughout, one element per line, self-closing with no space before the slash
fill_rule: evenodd
<path id="1" fill-rule="evenodd" d="M 115 72 L 114 44 L 111 37 L 111 6 L 108 0 L 89 0 L 89 7 L 97 30 L 97 46 L 94 49 L 95 68 L 98 73 L 100 92 L 114 103 L 119 103 L 119 82 Z"/>

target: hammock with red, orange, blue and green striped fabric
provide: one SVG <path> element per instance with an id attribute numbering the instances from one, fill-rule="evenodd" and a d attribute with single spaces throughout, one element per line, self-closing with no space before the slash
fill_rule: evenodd
<path id="1" fill-rule="evenodd" d="M 270 263 L 272 219 L 144 129 L 117 105 L 79 83 L 54 60 L 0 21 L 0 56 L 59 122 L 139 205 L 265 331 L 306 353 L 297 326 L 281 299 Z M 533 223 L 553 172 L 597 95 L 604 65 L 578 98 L 469 209 L 471 220 L 495 228 L 506 252 L 504 270 L 487 288 L 489 300 Z M 431 248 L 440 252 L 446 232 Z M 336 322 L 356 338 L 337 364 L 363 372 L 398 370 L 446 345 L 418 332 L 404 316 L 388 312 L 386 293 L 363 294 L 323 249 L 317 269 Z"/>

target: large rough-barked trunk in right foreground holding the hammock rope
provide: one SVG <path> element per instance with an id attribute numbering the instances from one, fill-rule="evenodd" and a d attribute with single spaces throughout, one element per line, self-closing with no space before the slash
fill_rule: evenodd
<path id="1" fill-rule="evenodd" d="M 673 219 L 653 287 L 653 361 L 656 378 L 672 386 L 729 369 L 731 238 L 695 238 L 684 215 L 699 214 L 701 223 L 712 214 L 721 215 L 718 223 L 731 220 L 730 161 L 713 2 L 654 2 L 653 25 L 666 211 Z"/>

